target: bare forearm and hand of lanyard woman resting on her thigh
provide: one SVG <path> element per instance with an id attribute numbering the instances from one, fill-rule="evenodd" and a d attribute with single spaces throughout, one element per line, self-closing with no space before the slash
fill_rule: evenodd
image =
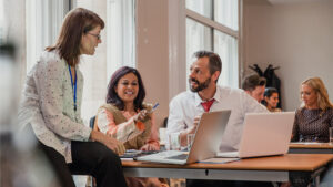
<path id="1" fill-rule="evenodd" d="M 121 142 L 110 136 L 107 136 L 101 132 L 91 131 L 90 139 L 104 144 L 108 148 L 110 148 L 118 155 L 123 155 L 125 152 L 125 147 Z"/>

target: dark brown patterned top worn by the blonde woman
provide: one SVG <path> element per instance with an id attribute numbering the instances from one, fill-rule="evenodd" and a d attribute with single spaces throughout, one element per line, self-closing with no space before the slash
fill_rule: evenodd
<path id="1" fill-rule="evenodd" d="M 293 139 L 300 142 L 329 142 L 329 127 L 333 127 L 333 108 L 296 111 Z"/>

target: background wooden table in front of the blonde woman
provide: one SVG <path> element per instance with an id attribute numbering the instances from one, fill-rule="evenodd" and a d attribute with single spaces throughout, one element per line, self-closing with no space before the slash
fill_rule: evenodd
<path id="1" fill-rule="evenodd" d="M 289 153 L 292 154 L 333 154 L 332 143 L 291 143 Z"/>

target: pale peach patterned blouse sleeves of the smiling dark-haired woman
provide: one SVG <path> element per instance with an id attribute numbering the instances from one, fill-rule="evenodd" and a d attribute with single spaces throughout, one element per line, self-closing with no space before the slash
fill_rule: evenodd
<path id="1" fill-rule="evenodd" d="M 130 114 L 127 111 L 120 112 L 128 121 L 121 124 L 117 124 L 112 112 L 101 107 L 97 115 L 97 125 L 100 132 L 113 138 L 117 138 L 122 143 L 125 143 L 127 141 L 142 134 L 145 127 L 141 122 L 134 123 L 133 116 L 135 114 Z M 160 149 L 159 134 L 153 114 L 151 116 L 151 133 L 145 144 L 150 144 L 155 149 Z"/>

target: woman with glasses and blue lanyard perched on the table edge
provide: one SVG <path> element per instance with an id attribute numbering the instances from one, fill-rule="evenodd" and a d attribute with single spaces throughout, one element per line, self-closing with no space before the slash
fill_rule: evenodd
<path id="1" fill-rule="evenodd" d="M 94 54 L 103 28 L 103 20 L 94 12 L 82 8 L 70 11 L 57 43 L 46 49 L 27 76 L 19 122 L 37 137 L 61 186 L 74 187 L 72 174 L 92 175 L 99 187 L 127 186 L 117 155 L 124 146 L 83 125 L 80 112 L 80 55 Z"/>

